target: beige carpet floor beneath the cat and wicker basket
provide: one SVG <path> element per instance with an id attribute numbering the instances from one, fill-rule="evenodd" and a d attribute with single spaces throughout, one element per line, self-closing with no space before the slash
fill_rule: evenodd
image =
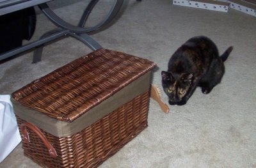
<path id="1" fill-rule="evenodd" d="M 76 23 L 86 2 L 56 5 L 56 12 Z M 102 14 L 104 5 L 95 15 Z M 53 27 L 38 15 L 33 39 Z M 220 53 L 230 45 L 234 50 L 225 62 L 221 84 L 209 95 L 198 88 L 186 105 L 170 106 L 169 114 L 151 100 L 148 128 L 100 167 L 256 167 L 255 32 L 256 18 L 237 10 L 200 10 L 173 6 L 169 0 L 129 1 L 113 26 L 92 36 L 107 49 L 157 63 L 153 84 L 161 86 L 161 70 L 167 70 L 170 56 L 192 36 L 209 36 Z M 4 61 L 0 94 L 10 94 L 91 51 L 74 38 L 65 38 L 47 45 L 39 63 L 31 64 L 32 52 Z M 163 99 L 168 102 L 165 95 Z M 0 167 L 38 167 L 22 152 L 17 146 Z"/>

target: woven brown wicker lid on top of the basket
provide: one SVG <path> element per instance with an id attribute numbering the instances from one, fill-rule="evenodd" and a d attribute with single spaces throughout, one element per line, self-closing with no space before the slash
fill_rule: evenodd
<path id="1" fill-rule="evenodd" d="M 99 49 L 31 82 L 12 96 L 26 107 L 72 122 L 154 66 L 147 59 Z"/>

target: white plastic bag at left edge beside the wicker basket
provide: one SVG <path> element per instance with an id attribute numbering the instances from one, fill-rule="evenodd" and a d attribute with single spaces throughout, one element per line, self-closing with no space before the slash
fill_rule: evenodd
<path id="1" fill-rule="evenodd" d="M 0 95 L 0 163 L 20 143 L 21 138 L 10 95 Z"/>

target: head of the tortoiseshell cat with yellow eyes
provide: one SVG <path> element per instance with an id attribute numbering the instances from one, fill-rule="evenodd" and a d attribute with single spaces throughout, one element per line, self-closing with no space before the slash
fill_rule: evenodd
<path id="1" fill-rule="evenodd" d="M 171 105 L 182 102 L 192 83 L 193 73 L 161 72 L 162 86 Z"/>

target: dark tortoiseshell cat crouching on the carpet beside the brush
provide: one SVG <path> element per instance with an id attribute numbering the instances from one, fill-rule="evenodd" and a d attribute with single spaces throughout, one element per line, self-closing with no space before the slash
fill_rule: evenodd
<path id="1" fill-rule="evenodd" d="M 208 94 L 224 75 L 223 62 L 233 47 L 219 56 L 214 42 L 196 36 L 184 43 L 170 58 L 167 72 L 162 71 L 162 86 L 170 105 L 184 105 L 197 86 Z"/>

